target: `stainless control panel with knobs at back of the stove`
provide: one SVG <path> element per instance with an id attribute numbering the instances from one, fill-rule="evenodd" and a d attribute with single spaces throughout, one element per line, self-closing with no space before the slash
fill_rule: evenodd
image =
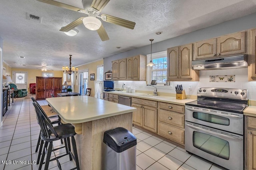
<path id="1" fill-rule="evenodd" d="M 248 90 L 234 88 L 198 88 L 197 96 L 248 100 Z"/>

